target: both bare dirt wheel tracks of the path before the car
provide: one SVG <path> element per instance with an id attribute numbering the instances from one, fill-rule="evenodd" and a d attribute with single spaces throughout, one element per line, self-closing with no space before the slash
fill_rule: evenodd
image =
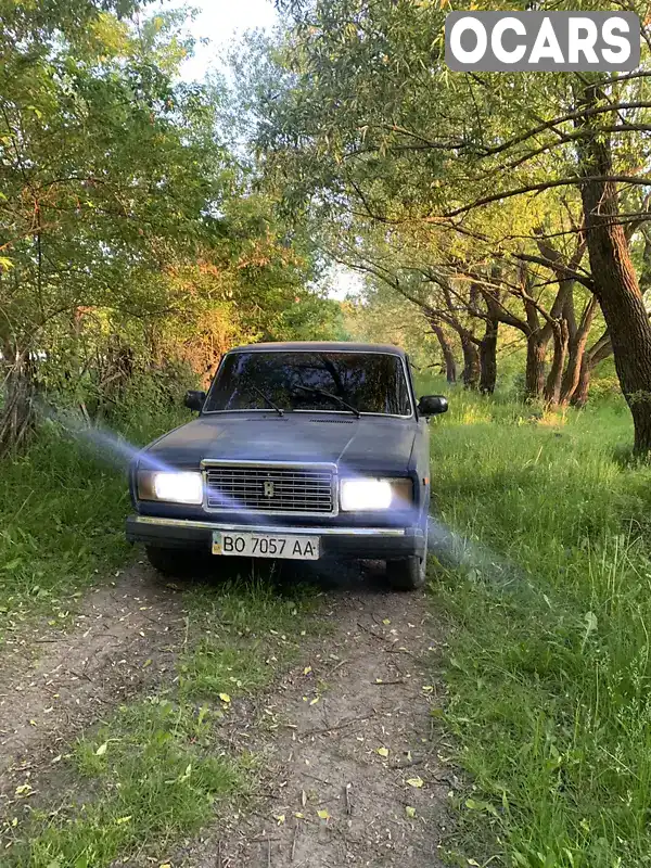
<path id="1" fill-rule="evenodd" d="M 272 690 L 233 702 L 225 737 L 263 755 L 264 793 L 248 816 L 170 854 L 175 868 L 441 865 L 446 796 L 458 783 L 431 714 L 442 687 L 429 658 L 443 637 L 424 593 L 390 593 L 376 579 L 372 570 L 331 577 L 321 586 L 326 638 L 308 635 Z M 37 777 L 85 726 L 168 679 L 184 638 L 182 595 L 135 566 L 88 595 L 67 635 L 8 643 L 0 815 L 16 782 Z"/>

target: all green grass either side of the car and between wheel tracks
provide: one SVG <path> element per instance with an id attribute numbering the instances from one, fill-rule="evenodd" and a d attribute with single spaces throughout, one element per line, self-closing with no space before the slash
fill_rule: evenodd
<path id="1" fill-rule="evenodd" d="M 608 399 L 546 416 L 461 390 L 450 406 L 432 424 L 442 563 L 432 591 L 450 630 L 439 714 L 469 773 L 452 864 L 648 866 L 651 469 L 627 460 L 627 410 Z M 118 456 L 178 421 L 125 423 L 122 438 L 90 449 L 43 432 L 28 456 L 3 463 L 0 635 L 35 613 L 65 620 L 95 571 L 129 558 Z M 18 825 L 13 865 L 161 852 L 248 791 L 255 760 L 215 750 L 229 710 L 215 698 L 267 684 L 266 659 L 291 656 L 311 601 L 269 586 L 197 593 L 188 605 L 200 638 L 174 687 L 71 750 L 68 808 L 61 822 L 46 813 Z M 95 795 L 77 803 L 76 788 Z"/>

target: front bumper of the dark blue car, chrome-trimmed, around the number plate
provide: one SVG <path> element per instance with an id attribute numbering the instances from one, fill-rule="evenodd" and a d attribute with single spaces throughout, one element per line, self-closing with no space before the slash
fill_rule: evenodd
<path id="1" fill-rule="evenodd" d="M 213 531 L 320 536 L 321 557 L 352 560 L 393 560 L 412 554 L 422 558 L 425 549 L 425 537 L 420 527 L 272 526 L 154 515 L 130 515 L 127 519 L 129 542 L 144 542 L 159 548 L 193 549 L 208 553 Z"/>

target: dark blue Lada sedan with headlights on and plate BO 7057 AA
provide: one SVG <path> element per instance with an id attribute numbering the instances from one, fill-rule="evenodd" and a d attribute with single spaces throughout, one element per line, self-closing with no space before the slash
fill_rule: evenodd
<path id="1" fill-rule="evenodd" d="M 174 574 L 192 551 L 384 560 L 397 589 L 425 578 L 429 417 L 395 346 L 284 343 L 228 352 L 199 418 L 131 462 L 127 537 Z"/>

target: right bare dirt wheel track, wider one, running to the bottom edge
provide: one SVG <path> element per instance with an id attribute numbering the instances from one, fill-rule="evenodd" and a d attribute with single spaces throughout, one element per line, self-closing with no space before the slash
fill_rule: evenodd
<path id="1" fill-rule="evenodd" d="M 319 617 L 332 634 L 253 707 L 233 710 L 230 742 L 261 752 L 266 794 L 230 828 L 169 854 L 174 866 L 442 865 L 447 794 L 461 787 L 431 713 L 444 701 L 432 672 L 445 640 L 424 593 L 370 578 L 330 590 Z"/>

